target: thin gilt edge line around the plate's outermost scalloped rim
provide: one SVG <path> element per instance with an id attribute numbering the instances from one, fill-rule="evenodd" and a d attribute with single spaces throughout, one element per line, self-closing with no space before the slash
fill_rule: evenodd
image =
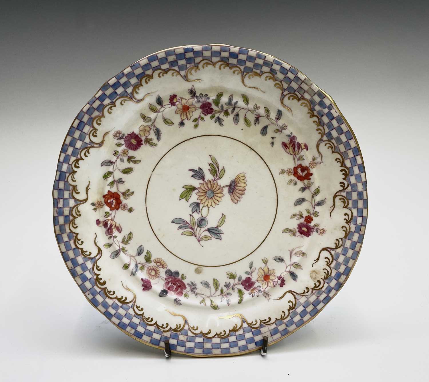
<path id="1" fill-rule="evenodd" d="M 275 57 L 275 56 L 272 56 L 271 54 L 267 54 L 267 53 L 265 53 L 265 52 L 262 52 L 262 51 L 257 51 L 257 50 L 254 50 L 254 49 L 250 49 L 250 48 L 242 48 L 242 47 L 236 47 L 236 46 L 233 46 L 233 45 L 228 45 L 228 44 L 208 44 L 208 45 L 215 45 L 215 46 L 226 46 L 226 47 L 230 47 L 230 48 L 238 48 L 238 49 L 246 49 L 246 50 L 249 50 L 249 51 L 255 51 L 255 52 L 257 52 L 257 53 L 261 53 L 261 54 L 265 54 L 266 56 L 269 56 L 269 57 L 273 57 L 273 58 L 275 58 L 276 60 L 278 60 L 278 61 L 280 61 L 280 62 L 282 62 L 282 63 L 285 63 L 286 65 L 288 65 L 288 66 L 290 66 L 290 67 L 292 67 L 292 68 L 294 68 L 294 69 L 296 69 L 299 73 L 301 73 L 302 75 L 304 75 L 301 71 L 299 71 L 296 67 L 294 67 L 294 66 L 292 66 L 292 65 L 290 65 L 289 63 L 287 63 L 286 61 L 284 61 L 284 60 L 281 60 L 281 59 L 279 59 L 279 58 L 277 58 L 277 57 Z M 208 45 L 206 45 L 206 46 L 208 46 Z M 180 46 L 176 46 L 176 47 L 174 47 L 174 48 L 167 48 L 167 49 L 162 49 L 162 50 L 160 50 L 160 51 L 157 51 L 157 52 L 154 52 L 154 53 L 151 53 L 151 54 L 148 54 L 147 56 L 145 56 L 145 57 L 142 57 L 141 59 L 139 59 L 139 60 L 137 60 L 137 61 L 135 61 L 134 63 L 137 63 L 137 62 L 139 62 L 139 61 L 141 61 L 141 60 L 144 60 L 145 58 L 147 58 L 147 57 L 149 57 L 149 56 L 151 56 L 151 55 L 153 55 L 153 54 L 158 54 L 158 53 L 161 53 L 161 52 L 165 52 L 165 51 L 168 51 L 168 50 L 172 50 L 172 49 L 176 49 L 176 48 L 187 48 L 187 47 L 195 47 L 195 46 L 205 46 L 205 45 L 180 45 Z M 134 64 L 133 63 L 133 64 Z M 131 64 L 131 65 L 133 65 L 133 64 Z M 127 66 L 125 69 L 127 69 L 128 67 L 130 67 L 131 65 L 129 65 L 129 66 Z M 119 74 L 119 73 L 122 73 L 125 69 L 123 69 L 121 72 L 118 72 L 117 73 L 117 75 Z M 341 118 L 344 120 L 344 123 L 345 123 L 345 125 L 347 126 L 347 128 L 349 129 L 349 131 L 351 132 L 351 134 L 352 134 L 352 137 L 353 137 L 353 140 L 355 141 L 355 143 L 356 143 L 356 147 L 357 147 L 357 149 L 358 149 L 358 151 L 359 151 L 359 155 L 360 155 L 360 158 L 361 158 L 361 160 L 362 160 L 362 165 L 363 165 L 363 172 L 365 173 L 365 182 L 367 182 L 367 179 L 366 179 L 366 170 L 365 170 L 365 163 L 364 163 L 364 160 L 363 160 L 363 155 L 362 155 L 362 152 L 361 152 L 361 149 L 360 149 L 360 145 L 359 145 L 359 142 L 358 142 L 358 140 L 357 140 L 357 138 L 356 138 L 356 134 L 354 133 L 354 131 L 353 131 L 353 129 L 351 128 L 351 126 L 350 126 L 350 124 L 348 123 L 348 121 L 347 121 L 347 119 L 344 117 L 344 115 L 343 115 L 343 113 L 341 113 L 341 110 L 339 110 L 339 108 L 338 108 L 338 106 L 337 106 L 337 104 L 335 103 L 335 101 L 333 100 L 333 98 L 328 94 L 328 93 L 326 93 L 324 90 L 322 90 L 320 87 L 318 87 L 310 78 L 308 78 L 306 75 L 304 75 L 305 76 L 305 78 L 307 78 L 309 81 L 311 81 L 311 83 L 314 85 L 314 86 L 316 86 L 330 101 L 331 101 L 331 103 L 332 103 L 332 105 L 335 107 L 335 110 L 338 112 L 338 114 L 341 116 Z M 115 77 L 115 76 L 113 76 L 113 77 Z M 112 78 L 113 78 L 112 77 Z M 111 78 L 110 78 L 111 79 Z M 110 80 L 109 79 L 109 80 Z M 108 81 L 109 81 L 108 80 Z M 107 82 L 107 81 L 106 81 Z M 104 84 L 106 84 L 106 82 L 104 82 L 103 83 L 103 85 L 97 90 L 97 92 L 94 94 L 94 96 L 101 90 L 101 88 L 104 86 Z M 137 83 L 136 83 L 137 84 Z M 86 104 L 88 104 L 88 102 L 86 102 L 85 103 L 85 105 Z M 85 105 L 84 105 L 84 107 L 85 107 Z M 82 110 L 82 109 L 81 109 Z M 81 110 L 79 110 L 79 113 L 80 113 L 80 111 Z M 78 115 L 79 115 L 79 113 L 77 113 L 76 114 L 76 117 L 73 119 L 73 122 L 77 119 L 77 117 L 78 117 Z M 69 131 L 70 131 L 70 128 L 71 128 L 72 126 L 70 126 L 69 127 L 69 130 L 67 131 L 67 133 L 66 133 L 66 136 L 65 136 L 65 138 L 64 138 L 64 140 L 63 140 L 63 143 L 62 143 L 62 145 L 61 145 L 61 147 L 63 147 L 64 146 L 64 144 L 65 144 L 65 142 L 66 142 L 66 139 L 67 139 L 67 137 L 69 136 Z M 58 159 L 57 159 L 57 163 L 60 161 L 60 156 L 61 156 L 61 154 L 62 154 L 62 152 L 60 151 L 60 153 L 59 153 L 59 155 L 58 155 Z M 56 175 L 57 175 L 57 170 L 55 170 L 55 178 L 54 178 L 54 182 L 57 180 L 56 179 Z M 54 235 L 55 235 L 55 238 L 56 238 L 56 235 L 57 235 L 57 233 L 55 232 L 55 222 L 54 222 L 54 218 L 55 218 L 55 205 L 54 205 L 54 200 L 55 199 L 57 199 L 57 198 L 55 198 L 54 197 L 54 191 L 55 191 L 55 189 L 54 188 L 52 188 L 52 201 L 53 201 L 53 219 L 52 219 L 52 222 L 53 222 L 53 228 L 54 228 Z M 368 191 L 367 190 L 365 190 L 366 191 L 366 193 L 367 193 L 367 200 L 368 200 Z M 368 218 L 368 206 L 366 207 L 366 218 Z M 366 225 L 365 225 L 365 227 L 366 227 Z M 364 239 L 364 237 L 365 237 L 365 232 L 362 234 L 363 235 L 363 239 Z M 57 241 L 57 240 L 56 240 Z M 61 253 L 61 255 L 62 255 L 62 251 L 61 251 L 61 248 L 60 248 L 60 244 L 58 243 L 58 241 L 57 241 L 57 246 L 58 246 L 58 249 L 59 249 L 59 251 L 60 251 L 60 253 Z M 270 342 L 269 344 L 268 344 L 268 346 L 271 346 L 271 345 L 274 345 L 275 343 L 278 343 L 280 340 L 283 340 L 284 338 L 286 338 L 286 337 L 288 337 L 290 334 L 293 334 L 295 331 L 297 331 L 298 329 L 300 329 L 300 328 L 302 328 L 302 326 L 304 326 L 304 325 L 306 325 L 306 324 L 308 324 L 309 322 L 311 322 L 315 317 L 317 317 L 318 315 L 319 315 L 319 313 L 327 306 L 327 304 L 329 304 L 329 302 L 331 302 L 332 301 L 332 299 L 338 294 L 338 292 L 342 289 L 342 287 L 344 286 L 344 284 L 345 284 L 345 282 L 348 280 L 348 278 L 350 277 L 350 274 L 351 274 L 351 272 L 353 271 L 353 269 L 354 269 L 354 267 L 355 267 L 355 265 L 356 265 L 356 262 L 357 262 L 357 260 L 358 260 L 358 258 L 359 258 L 359 256 L 360 256 L 360 252 L 361 252 L 361 250 L 362 250 L 362 246 L 363 246 L 363 240 L 362 240 L 362 242 L 360 243 L 360 248 L 359 248 L 359 251 L 358 251 L 358 253 L 357 253 L 357 256 L 356 256 L 356 259 L 354 260 L 354 263 L 353 263 L 353 265 L 351 266 L 351 268 L 350 268 L 350 272 L 349 272 L 349 274 L 344 278 L 344 281 L 341 283 L 341 285 L 340 285 L 340 287 L 338 288 L 338 290 L 335 292 L 335 294 L 329 299 L 329 301 L 327 301 L 326 302 L 326 304 L 324 304 L 323 305 L 323 307 L 321 307 L 320 308 L 320 310 L 313 316 L 313 317 L 310 317 L 310 319 L 308 319 L 308 321 L 306 321 L 305 323 L 303 323 L 302 325 L 300 325 L 300 326 L 298 326 L 297 328 L 295 328 L 293 331 L 290 331 L 290 332 L 288 332 L 287 334 L 285 334 L 283 337 L 281 337 L 281 338 L 278 338 L 277 340 L 274 340 L 274 341 L 272 341 L 272 342 Z M 63 256 L 61 256 L 61 258 L 63 259 L 63 262 L 64 262 L 64 264 L 65 264 L 65 266 L 66 266 L 66 268 L 67 268 L 67 270 L 70 272 L 70 270 L 69 270 L 69 268 L 67 267 L 67 264 L 66 264 L 66 260 L 64 260 L 64 257 Z M 75 283 L 76 283 L 76 285 L 79 287 L 79 284 L 77 283 L 77 281 L 76 281 L 76 279 L 73 277 L 73 275 L 72 275 L 72 278 L 73 278 L 73 280 L 75 281 Z M 81 290 L 80 288 L 79 288 L 79 290 Z M 81 290 L 81 292 L 82 292 L 82 290 Z M 83 293 L 83 295 L 85 296 L 85 298 L 88 300 L 88 302 L 91 304 L 91 306 L 92 307 L 94 307 L 94 309 L 96 309 L 98 312 L 100 312 L 100 313 L 102 313 L 99 309 L 97 309 L 97 307 L 95 307 L 93 304 L 92 304 L 92 302 L 91 302 L 91 300 L 89 300 L 89 298 L 87 297 L 87 295 L 85 294 L 85 292 L 82 292 Z M 103 314 L 103 313 L 102 313 Z M 104 315 L 103 315 L 104 316 Z M 136 337 L 136 336 L 134 336 L 133 334 L 131 334 L 131 333 L 129 333 L 129 332 L 127 332 L 127 331 L 125 331 L 124 329 L 122 329 L 122 328 L 120 328 L 118 325 L 116 325 L 114 322 L 112 322 L 111 320 L 109 320 L 109 322 L 111 322 L 113 325 L 115 325 L 118 329 L 120 329 L 121 331 L 123 331 L 125 334 L 127 334 L 128 336 L 130 336 L 130 337 L 132 337 L 134 340 L 137 340 L 137 341 L 139 341 L 139 342 L 141 342 L 141 343 L 144 343 L 145 345 L 148 345 L 148 346 L 151 346 L 151 347 L 154 347 L 154 348 L 156 348 L 156 349 L 164 349 L 162 346 L 157 346 L 157 345 L 154 345 L 154 344 L 151 344 L 151 343 L 148 343 L 148 342 L 146 342 L 146 341 L 144 341 L 144 340 L 141 340 L 141 339 L 139 339 L 138 337 Z M 188 355 L 188 356 L 191 356 L 191 357 L 196 357 L 196 358 L 207 358 L 207 357 L 227 357 L 227 356 L 236 356 L 236 355 L 242 355 L 242 354 L 247 354 L 247 353 L 251 353 L 251 352 L 254 352 L 254 351 L 257 351 L 257 350 L 260 350 L 261 349 L 261 346 L 259 346 L 259 347 L 256 347 L 255 349 L 249 349 L 249 350 L 245 350 L 245 351 L 242 351 L 242 352 L 236 352 L 236 353 L 229 353 L 229 354 L 209 354 L 209 355 L 205 355 L 205 354 L 194 354 L 194 353 L 185 353 L 185 352 L 181 352 L 181 351 L 177 351 L 177 350 L 172 350 L 172 352 L 174 352 L 174 353 L 177 353 L 177 354 L 182 354 L 182 355 Z"/>

